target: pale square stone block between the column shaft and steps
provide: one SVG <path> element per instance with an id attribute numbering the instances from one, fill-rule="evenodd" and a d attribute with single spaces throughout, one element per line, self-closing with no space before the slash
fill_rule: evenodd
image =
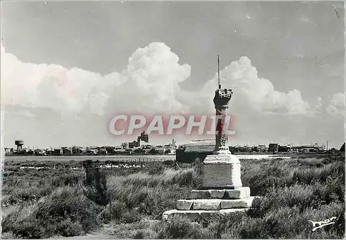
<path id="1" fill-rule="evenodd" d="M 208 155 L 203 161 L 202 189 L 235 189 L 242 187 L 240 161 L 233 154 Z"/>

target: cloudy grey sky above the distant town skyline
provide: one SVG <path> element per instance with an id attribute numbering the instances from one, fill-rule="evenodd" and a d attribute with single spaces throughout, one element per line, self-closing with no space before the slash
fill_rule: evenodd
<path id="1" fill-rule="evenodd" d="M 118 113 L 215 112 L 230 144 L 345 141 L 343 2 L 1 2 L 1 138 L 114 146 Z M 185 143 L 200 136 L 150 136 Z M 204 136 L 205 137 L 205 136 Z M 208 136 L 210 138 L 210 136 Z"/>

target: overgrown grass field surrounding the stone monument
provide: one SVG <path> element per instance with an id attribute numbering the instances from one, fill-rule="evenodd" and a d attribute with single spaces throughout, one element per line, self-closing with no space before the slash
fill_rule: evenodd
<path id="1" fill-rule="evenodd" d="M 3 239 L 95 232 L 135 239 L 342 239 L 345 234 L 344 154 L 242 161 L 243 186 L 262 199 L 248 212 L 201 223 L 161 221 L 165 210 L 176 208 L 176 200 L 201 183 L 198 164 L 181 170 L 161 162 L 101 169 L 100 181 L 82 169 L 20 169 L 24 164 L 5 161 Z M 309 220 L 331 217 L 337 217 L 335 224 L 312 231 Z"/>

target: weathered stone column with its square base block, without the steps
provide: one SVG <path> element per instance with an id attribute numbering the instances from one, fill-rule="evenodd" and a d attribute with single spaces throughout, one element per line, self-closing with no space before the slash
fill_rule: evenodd
<path id="1" fill-rule="evenodd" d="M 217 121 L 214 154 L 208 155 L 203 161 L 203 186 L 201 189 L 236 189 L 242 188 L 240 178 L 240 161 L 228 148 L 228 134 L 224 129 L 228 104 L 232 90 L 218 89 L 215 91 L 214 104 Z"/>

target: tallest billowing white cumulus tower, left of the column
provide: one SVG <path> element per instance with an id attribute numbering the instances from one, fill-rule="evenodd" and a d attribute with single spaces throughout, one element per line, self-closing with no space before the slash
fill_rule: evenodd
<path id="1" fill-rule="evenodd" d="M 138 48 L 129 57 L 129 65 L 122 72 L 125 78 L 125 94 L 115 99 L 129 110 L 149 110 L 150 112 L 176 111 L 183 106 L 176 100 L 179 83 L 190 77 L 190 66 L 180 65 L 179 57 L 170 51 L 164 43 L 152 43 Z M 114 100 L 112 101 L 114 102 Z"/>

